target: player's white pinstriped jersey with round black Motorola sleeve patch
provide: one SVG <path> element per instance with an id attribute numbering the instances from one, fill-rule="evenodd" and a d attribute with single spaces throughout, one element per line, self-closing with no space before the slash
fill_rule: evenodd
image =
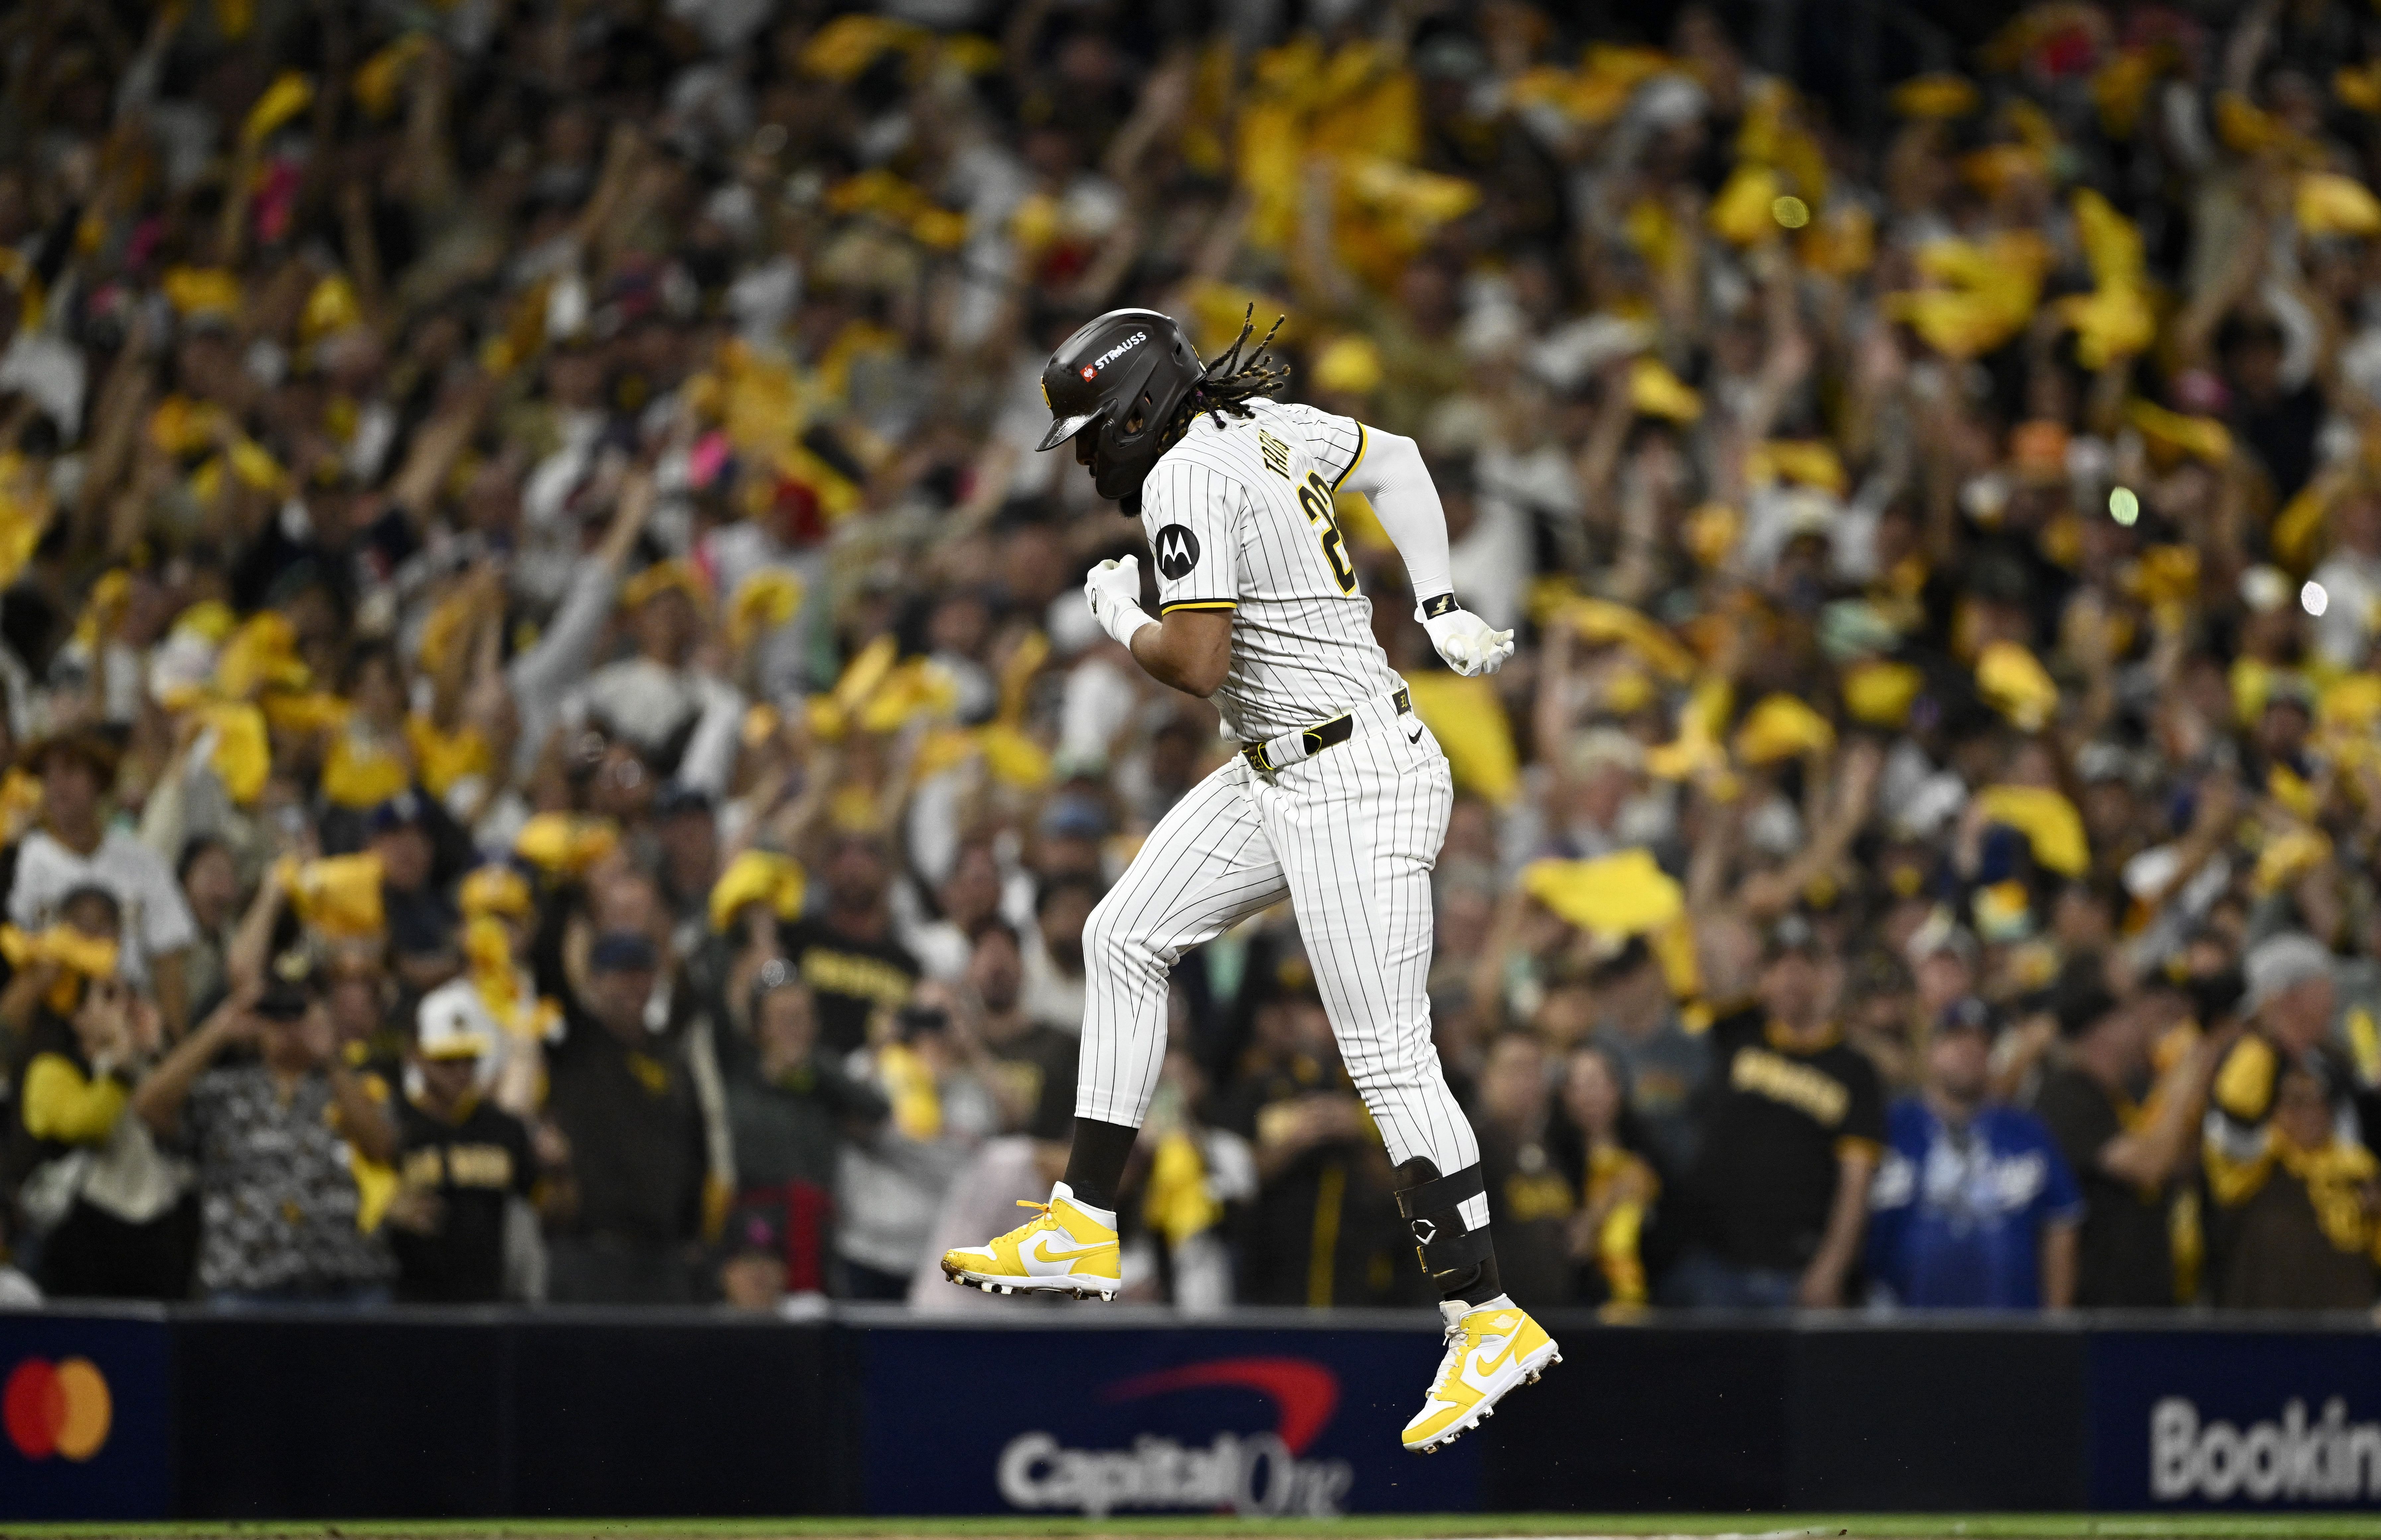
<path id="1" fill-rule="evenodd" d="M 1140 483 L 1157 612 L 1231 609 L 1224 728 L 1262 743 L 1329 721 L 1402 681 L 1371 638 L 1371 600 L 1331 493 L 1364 457 L 1364 426 L 1257 397 L 1200 417 Z"/>

